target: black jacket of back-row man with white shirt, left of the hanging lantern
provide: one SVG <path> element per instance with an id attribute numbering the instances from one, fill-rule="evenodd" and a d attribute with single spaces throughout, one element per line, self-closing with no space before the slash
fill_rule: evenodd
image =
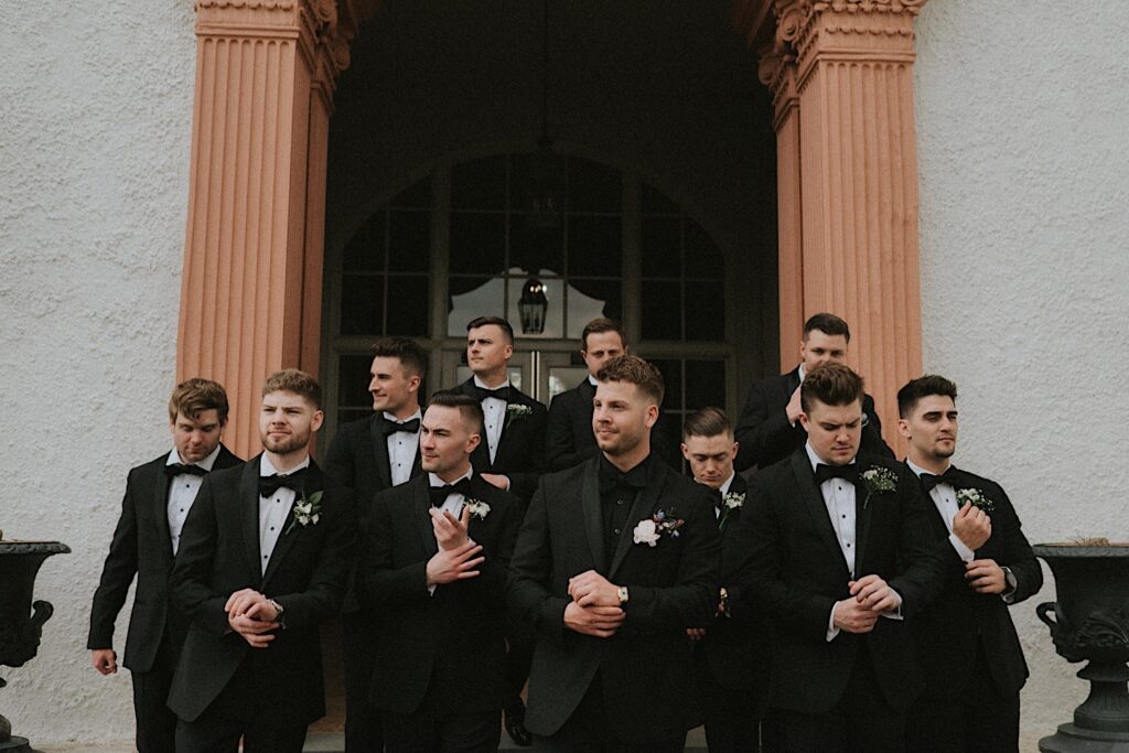
<path id="1" fill-rule="evenodd" d="M 471 377 L 456 389 L 478 400 L 474 378 Z M 545 467 L 545 406 L 513 385 L 509 388 L 509 405 L 527 405 L 533 413 L 517 418 L 506 415 L 495 462 L 490 462 L 490 446 L 487 430 L 482 427 L 482 441 L 471 454 L 471 465 L 475 473 L 500 473 L 509 476 L 509 491 L 528 502 L 537 488 L 537 479 Z"/>

